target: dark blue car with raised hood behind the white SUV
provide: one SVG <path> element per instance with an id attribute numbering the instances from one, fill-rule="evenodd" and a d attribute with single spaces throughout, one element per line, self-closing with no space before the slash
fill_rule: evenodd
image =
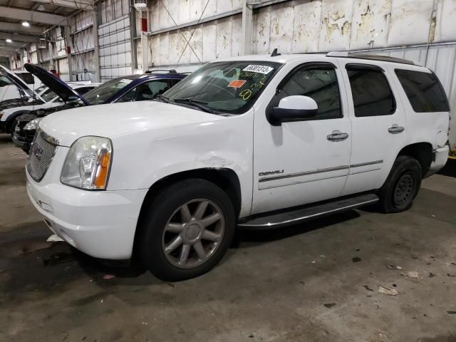
<path id="1" fill-rule="evenodd" d="M 26 71 L 33 73 L 43 84 L 48 86 L 63 99 L 65 104 L 46 109 L 32 110 L 20 115 L 14 128 L 13 142 L 28 153 L 33 136 L 41 118 L 59 110 L 81 107 L 83 105 L 103 105 L 105 103 L 133 102 L 153 100 L 165 93 L 183 78 L 185 73 L 176 71 L 151 72 L 114 78 L 84 95 L 76 93 L 61 79 L 33 64 L 25 65 Z"/>

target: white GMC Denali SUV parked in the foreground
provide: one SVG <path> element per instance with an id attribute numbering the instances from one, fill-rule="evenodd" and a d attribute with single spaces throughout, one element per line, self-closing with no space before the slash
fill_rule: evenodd
<path id="1" fill-rule="evenodd" d="M 27 165 L 51 230 L 160 279 L 211 269 L 235 227 L 267 229 L 378 203 L 410 208 L 445 165 L 447 98 L 432 71 L 379 56 L 208 63 L 159 100 L 44 118 Z"/>

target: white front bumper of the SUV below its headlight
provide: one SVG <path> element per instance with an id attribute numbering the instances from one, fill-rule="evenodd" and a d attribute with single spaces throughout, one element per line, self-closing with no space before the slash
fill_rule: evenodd
<path id="1" fill-rule="evenodd" d="M 58 154 L 41 182 L 26 172 L 28 197 L 48 227 L 92 257 L 130 259 L 147 190 L 88 191 L 63 185 Z"/>

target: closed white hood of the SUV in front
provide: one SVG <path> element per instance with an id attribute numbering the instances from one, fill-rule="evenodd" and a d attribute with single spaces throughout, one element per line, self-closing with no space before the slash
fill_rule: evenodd
<path id="1" fill-rule="evenodd" d="M 78 138 L 86 135 L 115 138 L 142 130 L 203 123 L 222 118 L 180 105 L 140 101 L 59 111 L 43 118 L 39 127 L 56 138 L 59 145 L 69 147 Z"/>

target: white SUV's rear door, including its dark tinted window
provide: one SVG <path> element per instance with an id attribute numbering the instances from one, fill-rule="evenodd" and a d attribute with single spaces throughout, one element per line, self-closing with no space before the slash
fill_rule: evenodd
<path id="1" fill-rule="evenodd" d="M 405 145 L 406 115 L 388 63 L 339 60 L 348 93 L 352 150 L 343 195 L 378 189 Z"/>

